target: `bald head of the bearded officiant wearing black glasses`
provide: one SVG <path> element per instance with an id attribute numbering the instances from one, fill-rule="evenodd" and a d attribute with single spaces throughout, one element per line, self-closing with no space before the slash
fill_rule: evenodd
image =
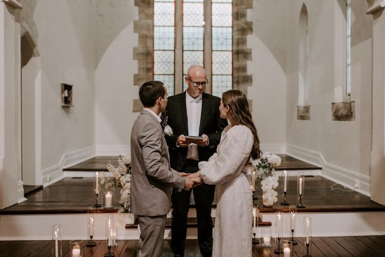
<path id="1" fill-rule="evenodd" d="M 199 82 L 202 83 L 206 81 L 207 81 L 206 70 L 202 66 L 192 65 L 188 69 L 187 76 L 185 78 L 185 82 L 188 85 L 187 93 L 193 98 L 199 97 L 200 95 L 203 94 L 204 89 L 206 88 L 204 85 L 203 86 L 200 85 Z M 198 86 L 194 86 L 194 84 L 197 84 L 194 82 L 197 82 Z"/>

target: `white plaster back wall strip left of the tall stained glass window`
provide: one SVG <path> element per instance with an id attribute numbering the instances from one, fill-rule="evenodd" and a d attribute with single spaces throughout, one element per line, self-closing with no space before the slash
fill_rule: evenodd
<path id="1" fill-rule="evenodd" d="M 138 87 L 133 86 L 137 61 L 133 47 L 138 34 L 133 21 L 138 9 L 133 0 L 94 1 L 97 12 L 97 57 L 95 58 L 95 143 L 97 154 L 125 154 L 131 127 L 138 113 L 132 113 Z"/>

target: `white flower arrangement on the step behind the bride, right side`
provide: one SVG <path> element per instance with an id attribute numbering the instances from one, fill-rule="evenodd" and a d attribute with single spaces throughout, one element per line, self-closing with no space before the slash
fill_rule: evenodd
<path id="1" fill-rule="evenodd" d="M 278 193 L 274 190 L 278 187 L 278 175 L 274 168 L 281 165 L 281 158 L 266 153 L 257 160 L 251 159 L 251 164 L 256 169 L 255 180 L 261 184 L 263 205 L 273 206 L 278 200 Z"/>

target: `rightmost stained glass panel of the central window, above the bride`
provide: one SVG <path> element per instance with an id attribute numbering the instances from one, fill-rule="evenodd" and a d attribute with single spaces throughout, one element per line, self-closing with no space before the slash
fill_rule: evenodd
<path id="1" fill-rule="evenodd" d="M 222 97 L 233 88 L 233 6 L 232 1 L 211 1 L 211 72 L 213 95 Z"/>

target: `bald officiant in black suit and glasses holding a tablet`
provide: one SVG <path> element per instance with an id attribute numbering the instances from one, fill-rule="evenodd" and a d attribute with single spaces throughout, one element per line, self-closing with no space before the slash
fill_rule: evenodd
<path id="1" fill-rule="evenodd" d="M 165 135 L 171 168 L 195 173 L 199 161 L 207 161 L 217 150 L 227 120 L 220 118 L 220 98 L 205 94 L 208 84 L 206 71 L 194 65 L 188 69 L 185 92 L 168 98 L 163 120 L 172 128 L 173 135 Z M 202 140 L 186 136 L 201 136 Z M 198 218 L 198 243 L 202 255 L 211 256 L 213 250 L 213 222 L 211 204 L 215 186 L 202 185 L 192 189 Z M 187 214 L 190 191 L 172 191 L 171 249 L 175 256 L 183 256 L 187 233 Z"/>

